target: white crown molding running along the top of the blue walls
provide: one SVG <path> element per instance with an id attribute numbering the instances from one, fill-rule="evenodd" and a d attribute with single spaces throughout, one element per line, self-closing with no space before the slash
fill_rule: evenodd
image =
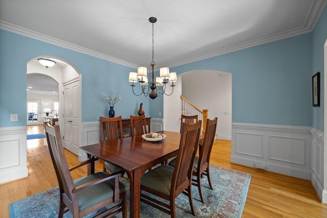
<path id="1" fill-rule="evenodd" d="M 188 63 L 192 63 L 192 62 L 196 62 L 196 61 L 200 61 L 200 60 L 204 60 L 204 59 L 208 59 L 208 58 L 213 58 L 216 56 L 220 56 L 220 55 L 224 55 L 226 53 L 230 53 L 233 51 L 238 51 L 238 50 L 242 50 L 245 48 L 250 48 L 253 46 L 258 46 L 258 45 L 262 45 L 262 44 L 266 44 L 266 43 L 270 43 L 270 42 L 274 42 L 274 41 L 278 41 L 278 40 L 282 40 L 282 39 L 286 39 L 289 37 L 294 37 L 297 35 L 301 35 L 301 34 L 305 34 L 305 33 L 310 33 L 313 31 L 314 26 L 316 25 L 320 14 L 322 13 L 325 5 L 327 4 L 327 0 L 316 0 L 312 2 L 311 5 L 311 9 L 310 12 L 308 14 L 308 17 L 306 19 L 306 21 L 304 22 L 303 26 L 301 26 L 300 28 L 296 28 L 290 31 L 285 31 L 283 33 L 278 33 L 275 35 L 271 35 L 268 37 L 263 37 L 263 38 L 258 38 L 252 41 L 248 41 L 245 43 L 240 43 L 237 45 L 233 45 L 233 46 L 229 46 L 229 47 L 225 47 L 222 49 L 218 49 L 218 50 L 214 50 L 211 52 L 207 52 L 204 53 L 202 55 L 198 55 L 198 56 L 193 56 L 191 58 L 187 58 L 187 59 L 182 59 L 182 60 L 178 60 L 175 62 L 171 62 L 171 63 L 167 63 L 166 65 L 170 66 L 170 67 L 176 67 L 179 65 L 183 65 L 183 64 L 188 64 Z M 103 53 L 94 51 L 94 50 L 90 50 L 72 43 L 68 43 L 56 38 L 53 38 L 51 36 L 46 36 L 25 28 L 21 28 L 20 26 L 5 22 L 0 20 L 0 29 L 6 30 L 6 31 L 10 31 L 19 35 L 23 35 L 23 36 L 27 36 L 33 39 L 37 39 L 43 42 L 48 42 L 50 44 L 54 44 L 63 48 L 67 48 L 67 49 L 71 49 L 71 50 L 75 50 L 81 53 L 85 53 L 86 55 L 90 55 L 96 58 L 100 58 L 100 59 L 104 59 L 107 61 L 111 61 L 117 64 L 121 64 L 127 67 L 132 67 L 132 68 L 137 68 L 138 65 L 118 59 L 118 58 L 114 58 L 108 55 L 104 55 Z M 155 71 L 159 70 L 161 66 L 156 66 L 155 67 Z"/>

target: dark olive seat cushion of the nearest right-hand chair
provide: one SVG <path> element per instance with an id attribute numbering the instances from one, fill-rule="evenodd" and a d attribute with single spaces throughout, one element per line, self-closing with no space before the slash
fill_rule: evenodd
<path id="1" fill-rule="evenodd" d="M 161 165 L 160 167 L 157 167 L 144 174 L 144 176 L 141 178 L 141 185 L 169 195 L 173 173 L 173 167 Z"/>

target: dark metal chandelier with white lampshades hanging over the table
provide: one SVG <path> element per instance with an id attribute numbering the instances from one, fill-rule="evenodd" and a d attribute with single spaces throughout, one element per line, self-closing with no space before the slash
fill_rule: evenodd
<path id="1" fill-rule="evenodd" d="M 160 68 L 160 77 L 156 77 L 154 81 L 154 67 L 155 63 L 153 61 L 153 23 L 157 21 L 157 18 L 150 17 L 149 21 L 152 23 L 152 62 L 150 63 L 150 66 L 152 68 L 152 80 L 148 82 L 148 69 L 146 67 L 138 67 L 137 73 L 136 72 L 129 72 L 129 78 L 128 81 L 132 83 L 130 85 L 132 87 L 133 93 L 136 96 L 144 94 L 144 96 L 148 96 L 151 99 L 155 99 L 160 94 L 163 95 L 171 95 L 174 92 L 174 82 L 177 81 L 177 75 L 176 72 L 169 72 L 168 67 L 161 67 Z M 139 79 L 139 84 L 141 85 L 142 92 L 139 94 L 136 94 L 134 92 L 134 83 L 137 83 L 137 79 Z M 166 84 L 172 83 L 170 86 L 172 87 L 172 91 L 170 94 L 166 92 Z"/>

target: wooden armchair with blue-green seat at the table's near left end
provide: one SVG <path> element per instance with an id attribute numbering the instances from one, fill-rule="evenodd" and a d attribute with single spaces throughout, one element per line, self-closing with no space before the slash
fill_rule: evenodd
<path id="1" fill-rule="evenodd" d="M 70 171 L 94 162 L 98 158 L 93 157 L 81 162 L 76 167 L 68 169 L 59 125 L 51 126 L 47 122 L 44 126 L 46 141 L 48 142 L 50 156 L 59 183 L 60 206 L 58 217 L 63 217 L 63 214 L 68 210 L 71 211 L 73 217 L 83 217 L 102 209 L 102 211 L 105 211 L 101 212 L 101 217 L 105 215 L 112 217 L 122 212 L 125 218 L 127 216 L 127 188 L 123 183 L 119 182 L 122 173 L 109 175 L 105 172 L 97 172 L 73 181 Z M 107 207 L 112 203 L 115 204 L 110 208 Z"/>

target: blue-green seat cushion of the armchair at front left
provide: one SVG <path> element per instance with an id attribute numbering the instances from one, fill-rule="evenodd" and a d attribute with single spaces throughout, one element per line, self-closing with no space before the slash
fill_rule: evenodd
<path id="1" fill-rule="evenodd" d="M 95 179 L 99 179 L 107 175 L 108 174 L 104 172 L 97 172 L 95 174 L 86 176 L 74 183 L 75 186 L 79 186 L 84 183 L 90 182 Z M 101 201 L 112 198 L 113 188 L 114 188 L 114 179 L 111 179 L 105 182 L 101 182 L 97 185 L 91 186 L 89 188 L 86 188 L 84 190 L 81 190 L 80 192 L 77 192 L 80 211 L 90 206 L 93 206 L 95 204 L 98 204 Z M 119 182 L 119 188 L 120 188 L 120 193 L 123 193 L 127 190 L 125 185 L 121 182 Z"/>

